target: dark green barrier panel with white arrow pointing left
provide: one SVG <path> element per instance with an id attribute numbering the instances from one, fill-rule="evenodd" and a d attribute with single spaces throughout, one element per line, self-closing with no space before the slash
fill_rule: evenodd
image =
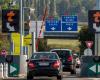
<path id="1" fill-rule="evenodd" d="M 82 56 L 80 68 L 80 77 L 99 77 L 100 56 Z"/>

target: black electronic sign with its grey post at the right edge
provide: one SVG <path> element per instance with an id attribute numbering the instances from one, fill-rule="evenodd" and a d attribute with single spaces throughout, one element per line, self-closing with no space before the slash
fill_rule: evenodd
<path id="1" fill-rule="evenodd" d="M 100 1 L 97 0 L 97 4 Z M 100 8 L 99 8 L 100 9 Z M 100 10 L 90 10 L 89 11 L 89 29 L 95 34 L 95 55 L 100 56 Z"/>

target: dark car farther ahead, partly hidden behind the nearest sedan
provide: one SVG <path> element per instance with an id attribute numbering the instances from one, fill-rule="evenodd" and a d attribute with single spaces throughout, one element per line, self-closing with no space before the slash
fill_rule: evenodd
<path id="1" fill-rule="evenodd" d="M 76 74 L 76 66 L 70 49 L 51 49 L 50 52 L 56 52 L 61 59 L 63 71 L 70 71 L 71 74 Z"/>

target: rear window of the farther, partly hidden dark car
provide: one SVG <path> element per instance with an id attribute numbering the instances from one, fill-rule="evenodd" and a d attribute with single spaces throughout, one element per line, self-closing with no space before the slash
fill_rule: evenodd
<path id="1" fill-rule="evenodd" d="M 53 50 L 52 52 L 56 52 L 60 58 L 66 58 L 71 55 L 69 50 Z"/>

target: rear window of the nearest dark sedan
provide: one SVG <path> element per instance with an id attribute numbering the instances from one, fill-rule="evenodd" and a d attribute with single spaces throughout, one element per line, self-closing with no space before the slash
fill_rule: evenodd
<path id="1" fill-rule="evenodd" d="M 58 59 L 58 56 L 54 53 L 33 53 L 31 59 Z"/>

